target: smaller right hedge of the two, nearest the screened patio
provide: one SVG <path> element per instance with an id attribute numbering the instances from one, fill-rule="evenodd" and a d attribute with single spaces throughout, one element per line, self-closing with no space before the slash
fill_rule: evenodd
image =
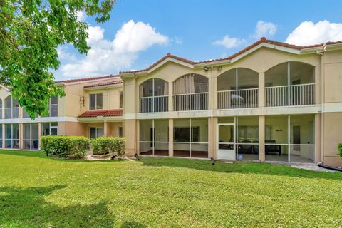
<path id="1" fill-rule="evenodd" d="M 98 137 L 90 143 L 94 155 L 113 154 L 125 157 L 125 138 L 123 137 Z"/>

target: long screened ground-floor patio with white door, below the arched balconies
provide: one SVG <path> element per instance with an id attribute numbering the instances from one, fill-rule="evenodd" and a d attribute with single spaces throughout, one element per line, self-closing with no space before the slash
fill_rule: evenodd
<path id="1" fill-rule="evenodd" d="M 138 154 L 316 163 L 316 114 L 138 120 Z"/>

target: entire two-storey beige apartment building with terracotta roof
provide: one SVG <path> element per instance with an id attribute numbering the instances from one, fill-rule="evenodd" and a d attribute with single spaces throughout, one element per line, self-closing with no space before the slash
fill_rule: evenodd
<path id="1" fill-rule="evenodd" d="M 56 83 L 66 96 L 35 120 L 0 88 L 3 148 L 123 135 L 127 155 L 342 165 L 342 42 L 261 38 L 227 58 L 167 53 L 140 71 Z"/>

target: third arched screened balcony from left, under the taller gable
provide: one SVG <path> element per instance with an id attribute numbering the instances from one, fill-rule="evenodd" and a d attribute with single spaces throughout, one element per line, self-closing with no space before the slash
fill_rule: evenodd
<path id="1" fill-rule="evenodd" d="M 247 68 L 234 68 L 217 77 L 217 108 L 258 107 L 259 74 Z"/>

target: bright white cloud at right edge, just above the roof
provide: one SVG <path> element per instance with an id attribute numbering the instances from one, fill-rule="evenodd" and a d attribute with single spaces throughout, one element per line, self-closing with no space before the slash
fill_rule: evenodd
<path id="1" fill-rule="evenodd" d="M 342 41 L 342 24 L 329 21 L 304 21 L 286 38 L 286 43 L 307 46 L 328 41 Z"/>

